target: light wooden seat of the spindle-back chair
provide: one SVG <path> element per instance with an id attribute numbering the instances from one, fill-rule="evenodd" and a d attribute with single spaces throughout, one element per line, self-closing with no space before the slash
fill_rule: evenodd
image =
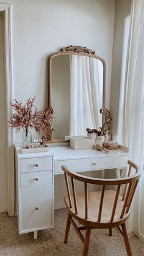
<path id="1" fill-rule="evenodd" d="M 103 210 L 102 210 L 101 222 L 100 222 L 101 224 L 106 224 L 110 222 L 115 194 L 116 194 L 116 191 L 114 190 L 106 190 L 104 193 Z M 76 199 L 77 199 L 77 212 L 78 212 L 76 216 L 77 218 L 85 219 L 85 196 L 84 194 L 77 194 Z M 87 221 L 98 223 L 98 211 L 99 211 L 100 199 L 101 199 L 101 191 L 88 192 Z M 65 196 L 64 200 L 67 207 L 69 208 L 68 196 Z M 71 201 L 72 201 L 72 205 L 74 205 L 73 196 L 71 196 Z M 123 216 L 123 219 L 120 219 L 123 203 L 124 201 L 122 201 L 122 197 L 118 196 L 118 202 L 117 202 L 117 207 L 116 207 L 115 217 L 113 219 L 113 222 L 118 222 L 128 217 L 129 213 L 125 213 Z M 69 208 L 69 211 L 71 211 L 72 214 L 75 214 L 74 207 Z"/>

